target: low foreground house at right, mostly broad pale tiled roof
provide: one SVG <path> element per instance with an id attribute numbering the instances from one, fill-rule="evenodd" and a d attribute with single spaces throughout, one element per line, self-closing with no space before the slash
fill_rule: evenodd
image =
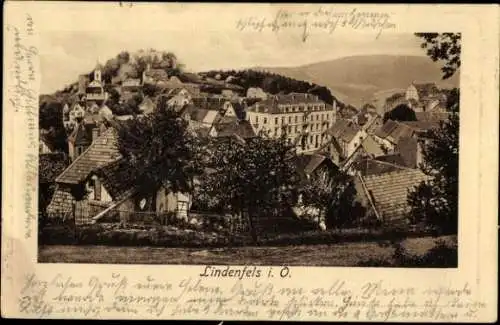
<path id="1" fill-rule="evenodd" d="M 355 178 L 357 201 L 366 207 L 379 222 L 388 226 L 408 225 L 408 192 L 428 176 L 418 169 L 399 170 Z"/>

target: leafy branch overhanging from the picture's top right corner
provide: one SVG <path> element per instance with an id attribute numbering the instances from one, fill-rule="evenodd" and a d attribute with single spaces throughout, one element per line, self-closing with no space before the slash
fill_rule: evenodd
<path id="1" fill-rule="evenodd" d="M 460 33 L 415 33 L 423 39 L 421 47 L 427 49 L 432 61 L 442 61 L 443 79 L 450 78 L 460 69 L 461 34 Z"/>

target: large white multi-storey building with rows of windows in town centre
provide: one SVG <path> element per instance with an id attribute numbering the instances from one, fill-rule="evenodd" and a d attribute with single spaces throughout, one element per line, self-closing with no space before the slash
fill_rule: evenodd
<path id="1" fill-rule="evenodd" d="M 247 120 L 257 134 L 278 138 L 285 135 L 297 144 L 299 153 L 318 150 L 328 140 L 326 131 L 335 123 L 333 106 L 304 93 L 270 95 L 247 111 Z"/>

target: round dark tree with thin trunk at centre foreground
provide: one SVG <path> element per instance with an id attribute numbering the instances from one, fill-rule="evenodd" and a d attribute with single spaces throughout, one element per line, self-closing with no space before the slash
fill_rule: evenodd
<path id="1" fill-rule="evenodd" d="M 255 221 L 263 215 L 281 214 L 295 202 L 295 147 L 285 138 L 266 137 L 220 139 L 210 147 L 212 172 L 201 178 L 199 197 L 213 208 L 245 215 L 257 243 Z"/>

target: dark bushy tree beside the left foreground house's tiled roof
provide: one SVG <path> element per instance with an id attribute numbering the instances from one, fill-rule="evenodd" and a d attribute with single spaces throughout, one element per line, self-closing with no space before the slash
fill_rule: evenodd
<path id="1" fill-rule="evenodd" d="M 193 178 L 201 172 L 198 141 L 187 122 L 173 110 L 157 110 L 126 121 L 118 131 L 118 147 L 129 161 L 140 190 L 190 192 Z"/>

